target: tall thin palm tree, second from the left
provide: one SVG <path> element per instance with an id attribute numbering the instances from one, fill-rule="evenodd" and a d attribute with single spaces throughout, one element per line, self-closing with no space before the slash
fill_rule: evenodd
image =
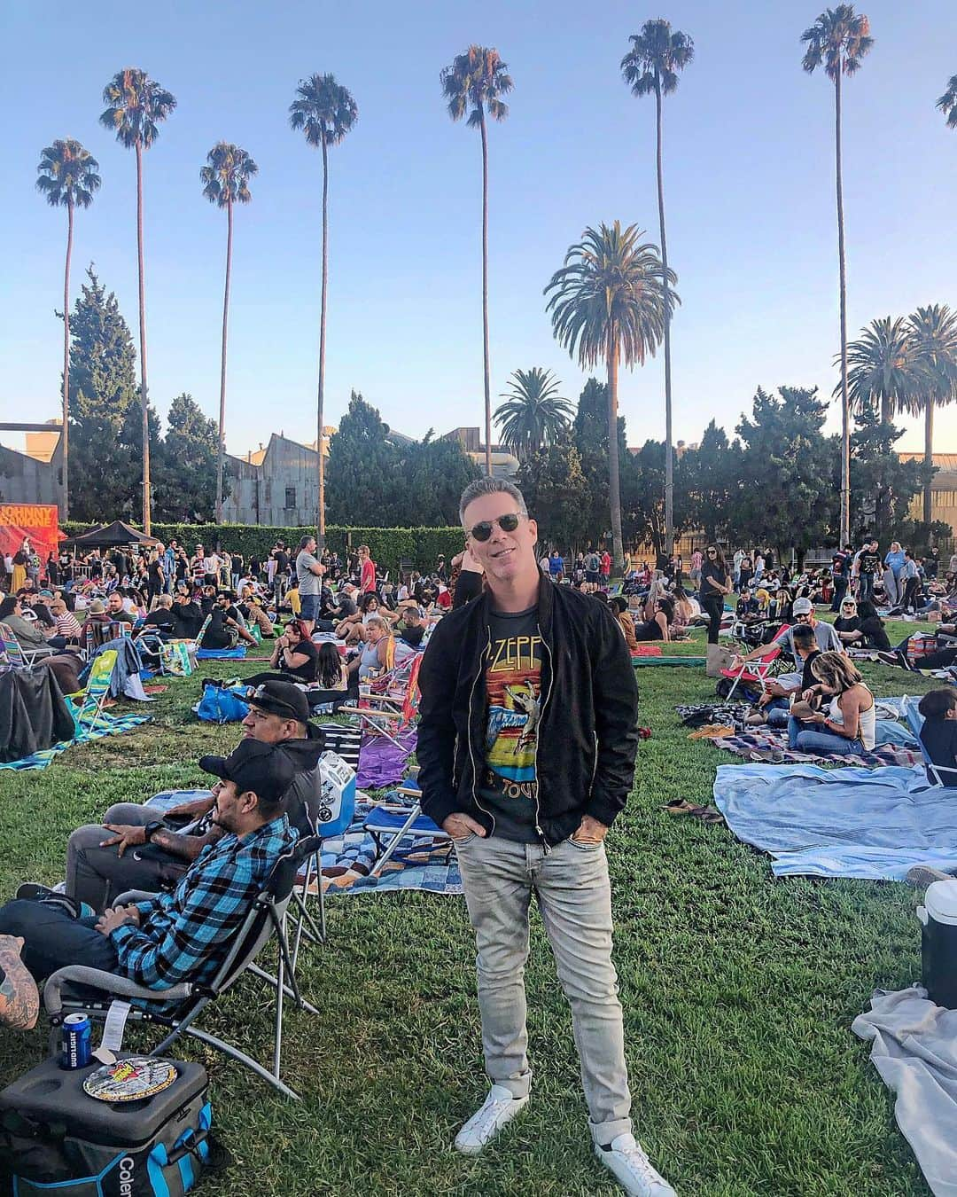
<path id="1" fill-rule="evenodd" d="M 150 534 L 150 396 L 146 385 L 146 284 L 142 262 L 142 152 L 159 136 L 159 122 L 176 108 L 172 92 L 145 71 L 127 67 L 103 89 L 99 122 L 127 150 L 136 151 L 136 261 L 140 277 L 140 405 L 142 407 L 142 525 Z"/>

